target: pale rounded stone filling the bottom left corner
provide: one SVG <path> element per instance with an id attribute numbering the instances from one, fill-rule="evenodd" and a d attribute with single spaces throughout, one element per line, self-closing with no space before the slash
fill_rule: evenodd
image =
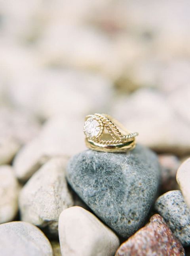
<path id="1" fill-rule="evenodd" d="M 38 227 L 23 221 L 13 221 L 0 225 L 0 255 L 53 256 L 53 250 Z"/>

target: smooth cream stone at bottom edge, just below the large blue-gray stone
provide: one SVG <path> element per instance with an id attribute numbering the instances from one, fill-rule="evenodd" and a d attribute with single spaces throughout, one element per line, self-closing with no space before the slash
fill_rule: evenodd
<path id="1" fill-rule="evenodd" d="M 69 256 L 112 256 L 120 242 L 95 215 L 74 206 L 59 216 L 61 254 Z"/>

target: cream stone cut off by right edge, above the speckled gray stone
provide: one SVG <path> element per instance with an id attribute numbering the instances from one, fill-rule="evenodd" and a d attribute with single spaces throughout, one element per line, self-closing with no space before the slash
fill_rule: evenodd
<path id="1" fill-rule="evenodd" d="M 190 158 L 180 165 L 176 178 L 184 200 L 190 209 Z"/>

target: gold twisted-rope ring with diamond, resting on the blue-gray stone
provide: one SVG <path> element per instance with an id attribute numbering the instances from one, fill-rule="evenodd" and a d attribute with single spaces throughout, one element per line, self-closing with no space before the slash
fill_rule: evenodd
<path id="1" fill-rule="evenodd" d="M 84 134 L 89 149 L 102 152 L 125 152 L 135 147 L 137 132 L 127 131 L 108 114 L 93 114 L 85 118 Z"/>

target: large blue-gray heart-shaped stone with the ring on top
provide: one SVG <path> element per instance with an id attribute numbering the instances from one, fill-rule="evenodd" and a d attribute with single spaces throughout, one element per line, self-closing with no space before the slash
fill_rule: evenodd
<path id="1" fill-rule="evenodd" d="M 100 219 L 129 237 L 142 227 L 154 202 L 160 166 L 141 145 L 128 153 L 87 150 L 69 161 L 67 179 Z"/>

